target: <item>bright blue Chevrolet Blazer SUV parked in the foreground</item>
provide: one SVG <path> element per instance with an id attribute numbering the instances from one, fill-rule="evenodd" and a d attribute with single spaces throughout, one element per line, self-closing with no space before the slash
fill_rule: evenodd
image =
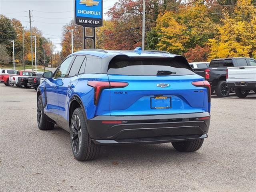
<path id="1" fill-rule="evenodd" d="M 37 91 L 40 130 L 70 132 L 77 160 L 101 145 L 171 142 L 198 150 L 210 125 L 210 84 L 186 58 L 160 51 L 86 49 L 45 72 Z"/>

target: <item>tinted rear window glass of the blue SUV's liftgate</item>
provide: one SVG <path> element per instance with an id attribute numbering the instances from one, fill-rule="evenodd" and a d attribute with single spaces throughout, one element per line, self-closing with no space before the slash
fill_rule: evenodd
<path id="1" fill-rule="evenodd" d="M 170 71 L 172 76 L 195 74 L 183 57 L 129 58 L 116 56 L 108 65 L 108 74 L 156 76 L 158 71 Z"/>

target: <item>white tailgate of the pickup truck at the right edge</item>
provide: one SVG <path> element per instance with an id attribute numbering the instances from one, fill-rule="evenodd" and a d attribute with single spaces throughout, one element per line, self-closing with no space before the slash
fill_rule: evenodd
<path id="1" fill-rule="evenodd" d="M 256 66 L 229 67 L 228 82 L 256 81 Z"/>

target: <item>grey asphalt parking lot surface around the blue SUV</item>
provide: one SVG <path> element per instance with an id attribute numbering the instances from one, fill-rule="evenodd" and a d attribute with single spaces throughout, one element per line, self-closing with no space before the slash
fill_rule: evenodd
<path id="1" fill-rule="evenodd" d="M 256 94 L 212 96 L 200 150 L 171 144 L 104 146 L 90 162 L 74 159 L 70 134 L 36 122 L 36 91 L 0 85 L 0 189 L 29 191 L 256 191 Z"/>

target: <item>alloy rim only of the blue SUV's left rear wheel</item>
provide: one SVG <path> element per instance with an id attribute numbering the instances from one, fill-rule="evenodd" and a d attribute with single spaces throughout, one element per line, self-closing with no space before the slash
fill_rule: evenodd
<path id="1" fill-rule="evenodd" d="M 74 115 L 71 122 L 71 142 L 72 149 L 76 155 L 79 154 L 82 144 L 81 121 L 78 115 Z"/>

